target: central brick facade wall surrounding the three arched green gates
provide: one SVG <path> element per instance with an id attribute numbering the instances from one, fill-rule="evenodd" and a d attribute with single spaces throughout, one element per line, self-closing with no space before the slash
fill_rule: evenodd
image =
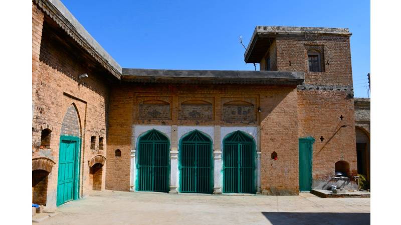
<path id="1" fill-rule="evenodd" d="M 107 152 L 106 188 L 125 190 L 130 188 L 130 159 L 132 125 L 259 125 L 262 157 L 262 192 L 264 194 L 296 194 L 298 192 L 298 123 L 297 91 L 295 87 L 273 87 L 263 85 L 194 85 L 194 84 L 134 84 L 122 83 L 111 90 L 109 113 L 109 139 Z M 157 120 L 138 118 L 135 113 L 141 99 L 171 99 L 171 119 Z M 191 96 L 191 97 L 187 97 Z M 180 102 L 195 103 L 199 99 L 212 103 L 214 119 L 188 119 L 182 117 Z M 199 103 L 199 102 L 198 102 Z M 240 107 L 252 108 L 252 122 L 244 119 L 226 121 L 224 105 L 233 103 L 238 113 Z M 258 113 L 260 106 L 262 113 Z M 203 114 L 210 112 L 204 107 Z M 248 108 L 249 109 L 249 108 Z M 246 111 L 248 111 L 248 109 Z M 243 111 L 244 108 L 241 108 Z M 241 113 L 243 116 L 243 113 Z M 115 149 L 121 150 L 121 157 L 114 156 Z M 271 152 L 279 154 L 279 160 L 272 161 Z M 280 175 L 285 174 L 285 176 Z"/>

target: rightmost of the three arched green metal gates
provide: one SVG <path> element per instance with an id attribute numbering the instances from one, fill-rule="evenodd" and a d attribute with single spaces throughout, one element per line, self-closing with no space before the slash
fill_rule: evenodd
<path id="1" fill-rule="evenodd" d="M 253 138 L 235 131 L 223 141 L 223 192 L 255 193 L 256 150 Z"/>

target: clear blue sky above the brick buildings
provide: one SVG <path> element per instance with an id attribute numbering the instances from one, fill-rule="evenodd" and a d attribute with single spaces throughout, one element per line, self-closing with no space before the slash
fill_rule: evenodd
<path id="1" fill-rule="evenodd" d="M 356 97 L 367 97 L 367 0 L 62 0 L 122 67 L 253 70 L 244 62 L 256 25 L 347 27 Z M 259 68 L 259 66 L 257 66 Z"/>

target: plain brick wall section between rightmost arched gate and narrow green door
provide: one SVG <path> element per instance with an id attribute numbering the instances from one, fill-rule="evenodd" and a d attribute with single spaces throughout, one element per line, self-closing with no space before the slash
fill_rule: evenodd
<path id="1" fill-rule="evenodd" d="M 261 93 L 261 191 L 262 194 L 297 194 L 297 91 L 267 89 Z M 277 153 L 277 160 L 271 158 L 273 151 Z"/>

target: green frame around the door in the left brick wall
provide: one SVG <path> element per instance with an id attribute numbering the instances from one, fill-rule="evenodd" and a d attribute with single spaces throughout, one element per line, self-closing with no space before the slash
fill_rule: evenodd
<path id="1" fill-rule="evenodd" d="M 62 145 L 63 140 L 69 140 L 69 141 L 76 141 L 76 147 L 75 147 L 75 152 L 74 152 L 74 157 L 75 157 L 75 162 L 76 164 L 74 165 L 74 185 L 73 185 L 73 198 L 72 200 L 78 199 L 79 196 L 79 187 L 80 187 L 80 171 L 81 171 L 81 138 L 78 136 L 69 136 L 69 135 L 60 135 L 60 144 L 59 144 L 59 162 L 58 165 L 60 165 L 60 149 Z M 58 173 L 57 173 L 57 192 L 59 191 L 59 167 L 58 167 Z M 58 202 L 58 194 L 56 193 L 56 206 L 62 205 L 66 202 L 59 203 Z"/>

